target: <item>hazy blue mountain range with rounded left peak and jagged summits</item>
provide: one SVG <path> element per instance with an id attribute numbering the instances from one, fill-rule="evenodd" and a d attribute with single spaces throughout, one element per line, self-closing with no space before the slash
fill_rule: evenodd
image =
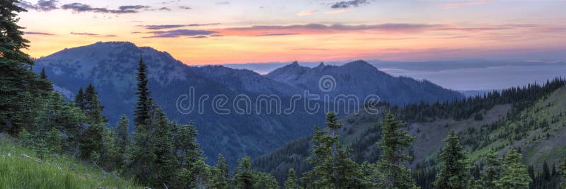
<path id="1" fill-rule="evenodd" d="M 282 109 L 290 108 L 290 103 L 285 102 L 290 102 L 291 96 L 302 95 L 305 90 L 331 97 L 341 93 L 360 97 L 374 94 L 380 96 L 381 101 L 398 105 L 452 101 L 463 97 L 461 93 L 428 81 L 390 76 L 364 61 L 340 67 L 321 64 L 315 68 L 294 63 L 260 75 L 250 70 L 223 66 L 187 66 L 167 52 L 137 47 L 131 42 L 96 42 L 65 49 L 37 59 L 33 69 L 40 71 L 45 68 L 58 91 L 69 98 L 73 98 L 79 88 L 92 82 L 105 105 L 103 113 L 109 118 L 109 124 L 115 125 L 122 114 L 133 118 L 137 101 L 135 76 L 140 55 L 149 67 L 151 97 L 171 120 L 183 124 L 191 120 L 194 122 L 200 132 L 198 141 L 209 162 L 215 161 L 219 153 L 228 157 L 265 154 L 291 139 L 310 134 L 313 125 L 323 125 L 324 120 L 323 111 L 306 113 L 305 108 L 301 108 L 304 101 L 296 101 L 299 108 L 290 114 L 267 113 L 269 108 L 250 103 L 249 108 L 259 113 L 232 111 L 221 115 L 213 108 L 214 98 L 218 96 L 233 100 L 242 95 L 250 99 L 277 95 L 282 101 L 279 107 Z M 320 91 L 319 79 L 322 76 L 335 80 L 333 91 Z M 191 113 L 182 113 L 177 107 L 178 99 L 182 95 L 192 95 L 191 88 L 195 89 L 197 99 L 202 96 L 209 98 L 202 105 L 195 105 L 198 107 Z M 232 102 L 224 104 L 224 108 L 235 110 L 241 105 L 238 104 L 240 101 Z M 197 108 L 201 108 L 202 113 Z M 133 129 L 133 125 L 130 127 Z"/>

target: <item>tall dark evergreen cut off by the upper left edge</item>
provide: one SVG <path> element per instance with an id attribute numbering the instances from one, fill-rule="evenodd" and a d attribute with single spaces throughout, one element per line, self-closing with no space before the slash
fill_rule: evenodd
<path id="1" fill-rule="evenodd" d="M 0 1 L 0 132 L 18 134 L 25 125 L 25 93 L 34 93 L 37 75 L 29 70 L 33 60 L 22 52 L 29 47 L 23 38 L 22 27 L 17 25 L 17 13 L 25 12 L 17 6 L 18 0 Z M 33 108 L 33 107 L 28 107 Z"/>

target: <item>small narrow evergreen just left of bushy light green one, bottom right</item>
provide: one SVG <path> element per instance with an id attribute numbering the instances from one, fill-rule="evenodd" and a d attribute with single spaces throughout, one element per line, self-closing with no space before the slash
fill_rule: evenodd
<path id="1" fill-rule="evenodd" d="M 490 151 L 485 157 L 485 167 L 481 174 L 483 188 L 496 188 L 495 181 L 501 178 L 502 165 L 497 158 L 497 151 Z"/>

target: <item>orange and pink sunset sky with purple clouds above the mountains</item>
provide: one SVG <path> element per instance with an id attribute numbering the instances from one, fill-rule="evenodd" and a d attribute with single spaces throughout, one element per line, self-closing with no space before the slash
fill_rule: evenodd
<path id="1" fill-rule="evenodd" d="M 23 1 L 33 57 L 130 41 L 185 64 L 566 59 L 566 1 Z M 560 57 L 562 55 L 562 57 Z"/>

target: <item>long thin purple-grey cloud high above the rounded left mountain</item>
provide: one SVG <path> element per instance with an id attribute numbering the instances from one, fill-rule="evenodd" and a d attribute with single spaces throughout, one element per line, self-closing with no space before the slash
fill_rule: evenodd
<path id="1" fill-rule="evenodd" d="M 88 4 L 81 4 L 81 3 L 72 3 L 72 4 L 64 4 L 61 6 L 64 10 L 71 10 L 75 13 L 83 13 L 83 12 L 94 12 L 94 13 L 138 13 L 140 10 L 150 8 L 149 6 L 142 6 L 142 5 L 127 5 L 127 6 L 120 6 L 117 9 L 109 9 L 109 8 L 100 8 L 100 7 L 92 7 Z"/>

